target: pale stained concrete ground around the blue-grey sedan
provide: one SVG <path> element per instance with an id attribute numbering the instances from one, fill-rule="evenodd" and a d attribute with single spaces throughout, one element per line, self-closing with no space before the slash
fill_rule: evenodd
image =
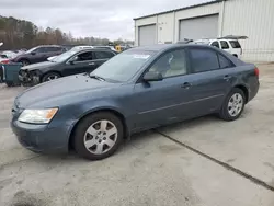
<path id="1" fill-rule="evenodd" d="M 142 133 L 98 162 L 22 148 L 9 121 L 23 88 L 0 84 L 0 205 L 273 206 L 274 65 L 259 68 L 260 93 L 240 119 Z"/>

